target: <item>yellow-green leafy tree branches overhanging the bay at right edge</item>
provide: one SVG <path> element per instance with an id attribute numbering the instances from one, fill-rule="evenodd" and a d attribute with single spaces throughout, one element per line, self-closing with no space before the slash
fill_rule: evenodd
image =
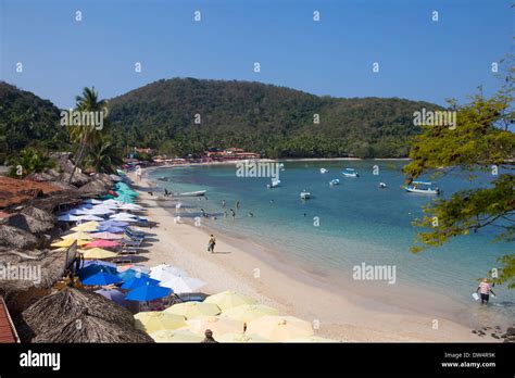
<path id="1" fill-rule="evenodd" d="M 404 166 L 406 181 L 424 174 L 438 177 L 455 168 L 495 173 L 487 188 L 463 190 L 449 199 L 438 199 L 424 209 L 427 214 L 414 225 L 427 230 L 418 234 L 419 252 L 442 245 L 450 239 L 477 232 L 486 226 L 500 229 L 495 241 L 513 241 L 515 236 L 515 135 L 510 123 L 515 118 L 513 105 L 513 67 L 500 92 L 490 99 L 481 93 L 472 102 L 451 106 L 457 112 L 456 127 L 424 127 L 413 138 L 412 161 Z M 445 168 L 445 169 L 442 169 Z M 449 168 L 449 169 L 448 169 Z M 470 179 L 475 179 L 470 175 Z M 435 222 L 436 220 L 436 222 Z M 514 288 L 514 257 L 504 256 L 498 282 Z"/>

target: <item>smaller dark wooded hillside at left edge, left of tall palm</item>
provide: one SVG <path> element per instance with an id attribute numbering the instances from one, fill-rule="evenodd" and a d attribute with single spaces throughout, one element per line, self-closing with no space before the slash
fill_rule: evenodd
<path id="1" fill-rule="evenodd" d="M 28 144 L 64 148 L 67 135 L 59 112 L 52 102 L 0 81 L 0 163 Z"/>

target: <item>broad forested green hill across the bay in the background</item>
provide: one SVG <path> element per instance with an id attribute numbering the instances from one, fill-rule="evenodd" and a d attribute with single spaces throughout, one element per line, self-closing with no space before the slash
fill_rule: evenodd
<path id="1" fill-rule="evenodd" d="M 439 108 L 397 98 L 337 99 L 260 83 L 194 78 L 159 80 L 109 103 L 118 143 L 179 156 L 210 147 L 241 147 L 271 158 L 405 156 L 407 138 L 419 133 L 413 113 Z"/>

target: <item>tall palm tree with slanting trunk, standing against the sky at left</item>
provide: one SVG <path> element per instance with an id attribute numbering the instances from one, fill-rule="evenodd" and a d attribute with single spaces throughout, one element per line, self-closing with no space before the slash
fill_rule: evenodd
<path id="1" fill-rule="evenodd" d="M 83 94 L 77 96 L 75 101 L 75 111 L 78 112 L 101 112 L 106 108 L 106 101 L 99 100 L 95 87 L 85 87 L 83 89 Z M 77 166 L 81 165 L 84 158 L 86 156 L 86 151 L 92 143 L 99 140 L 103 130 L 105 130 L 105 128 L 98 130 L 95 125 L 68 126 L 70 139 L 73 142 L 78 143 L 77 158 L 75 159 L 74 168 L 70 175 L 68 184 L 72 182 Z"/>

